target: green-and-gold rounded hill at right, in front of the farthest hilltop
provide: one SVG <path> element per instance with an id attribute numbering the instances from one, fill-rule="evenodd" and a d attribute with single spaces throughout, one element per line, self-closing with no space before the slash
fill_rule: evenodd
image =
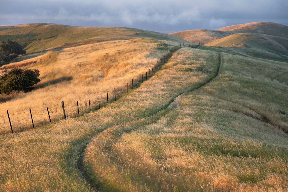
<path id="1" fill-rule="evenodd" d="M 288 39 L 259 33 L 237 33 L 215 40 L 207 46 L 246 47 L 288 55 Z"/>

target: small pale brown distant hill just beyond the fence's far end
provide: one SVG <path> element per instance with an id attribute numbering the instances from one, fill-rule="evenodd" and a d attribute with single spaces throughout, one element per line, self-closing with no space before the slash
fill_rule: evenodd
<path id="1" fill-rule="evenodd" d="M 169 35 L 174 35 L 176 37 L 185 39 L 193 43 L 203 42 L 204 44 L 207 44 L 217 39 L 226 37 L 230 35 L 230 33 L 209 29 L 196 29 L 196 30 L 180 31 L 176 33 L 169 33 Z"/>

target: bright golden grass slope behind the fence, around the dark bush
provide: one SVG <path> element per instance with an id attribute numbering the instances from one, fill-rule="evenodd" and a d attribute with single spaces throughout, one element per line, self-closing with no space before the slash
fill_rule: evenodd
<path id="1" fill-rule="evenodd" d="M 13 114 L 29 111 L 29 108 L 36 110 L 33 114 L 39 116 L 46 113 L 46 107 L 55 109 L 54 112 L 51 111 L 51 115 L 56 115 L 59 113 L 55 112 L 56 108 L 61 108 L 63 100 L 68 105 L 76 104 L 77 100 L 87 102 L 90 98 L 93 106 L 98 106 L 98 95 L 105 100 L 107 91 L 111 97 L 114 88 L 123 86 L 126 89 L 126 83 L 130 85 L 132 78 L 145 74 L 157 64 L 167 49 L 167 46 L 158 40 L 117 40 L 65 48 L 28 61 L 4 65 L 3 68 L 19 66 L 24 69 L 38 69 L 41 81 L 31 92 L 17 94 L 0 103 L 0 116 L 6 116 L 6 110 Z M 6 96 L 3 100 L 5 98 Z M 22 120 L 23 115 L 29 115 L 29 112 L 13 115 L 12 119 L 25 123 L 26 121 Z M 40 116 L 42 118 L 37 119 L 38 121 L 49 120 L 47 114 Z M 30 119 L 25 119 L 30 125 Z M 0 123 L 1 120 L 0 118 Z M 0 132 L 2 131 L 7 132 L 9 129 L 1 129 Z"/>

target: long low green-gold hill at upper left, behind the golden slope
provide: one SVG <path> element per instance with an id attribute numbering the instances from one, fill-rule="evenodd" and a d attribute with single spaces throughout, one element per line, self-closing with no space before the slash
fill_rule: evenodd
<path id="1" fill-rule="evenodd" d="M 58 24 L 24 24 L 0 26 L 0 42 L 8 39 L 23 45 L 27 53 L 57 46 L 74 46 L 107 40 L 154 38 L 186 42 L 164 33 L 125 27 L 77 27 Z"/>

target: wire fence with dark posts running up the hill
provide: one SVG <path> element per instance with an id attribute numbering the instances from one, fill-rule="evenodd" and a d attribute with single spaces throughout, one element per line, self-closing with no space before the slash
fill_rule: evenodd
<path id="1" fill-rule="evenodd" d="M 171 47 L 168 50 L 168 53 L 162 58 L 159 58 L 157 63 L 155 63 L 151 69 L 147 69 L 145 74 L 140 74 L 137 77 L 132 78 L 130 83 L 125 83 L 121 87 L 107 90 L 105 95 L 98 95 L 96 98 L 87 98 L 85 101 L 79 100 L 70 103 L 62 101 L 59 102 L 59 107 L 56 108 L 47 106 L 46 109 L 42 110 L 28 109 L 27 111 L 12 114 L 7 110 L 7 114 L 0 116 L 0 132 L 7 133 L 10 131 L 13 133 L 15 131 L 35 128 L 36 126 L 41 126 L 60 119 L 79 117 L 90 111 L 98 110 L 101 107 L 116 101 L 121 98 L 123 94 L 128 93 L 129 90 L 139 87 L 141 83 L 150 79 L 178 49 L 183 47 L 197 48 L 200 46 L 200 43 L 197 45 L 181 43 L 175 46 L 168 46 Z"/>

